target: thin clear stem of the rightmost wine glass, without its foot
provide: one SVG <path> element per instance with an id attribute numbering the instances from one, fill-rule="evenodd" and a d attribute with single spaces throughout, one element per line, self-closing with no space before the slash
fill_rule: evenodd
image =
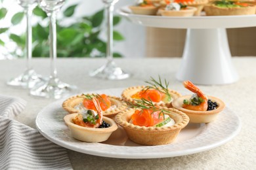
<path id="1" fill-rule="evenodd" d="M 114 5 L 106 5 L 107 12 L 107 49 L 106 49 L 106 58 L 108 62 L 113 60 L 113 11 Z"/>

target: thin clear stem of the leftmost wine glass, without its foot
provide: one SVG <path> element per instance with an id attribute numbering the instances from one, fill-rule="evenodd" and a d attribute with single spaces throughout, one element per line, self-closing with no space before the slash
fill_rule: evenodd
<path id="1" fill-rule="evenodd" d="M 27 69 L 32 69 L 31 59 L 32 59 L 32 25 L 31 25 L 31 16 L 32 16 L 32 8 L 28 7 L 25 9 L 26 13 L 26 22 L 27 22 L 27 30 L 26 30 L 26 60 L 27 60 Z"/>

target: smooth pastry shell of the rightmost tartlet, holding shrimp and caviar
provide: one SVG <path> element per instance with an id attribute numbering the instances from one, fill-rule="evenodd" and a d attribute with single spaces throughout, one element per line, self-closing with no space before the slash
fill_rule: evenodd
<path id="1" fill-rule="evenodd" d="M 189 116 L 191 123 L 209 123 L 209 122 L 212 122 L 217 118 L 217 115 L 219 114 L 219 112 L 221 112 L 225 107 L 225 103 L 221 99 L 218 99 L 217 97 L 213 97 L 213 96 L 208 95 L 207 96 L 208 99 L 211 99 L 211 101 L 213 101 L 213 102 L 216 101 L 217 104 L 219 105 L 219 107 L 217 107 L 217 109 L 209 110 L 209 111 L 195 111 L 195 110 L 184 109 L 182 107 L 183 100 L 184 99 L 190 99 L 190 97 L 191 97 L 191 95 L 184 95 L 182 97 L 174 99 L 173 102 L 172 102 L 172 105 L 175 109 L 181 110 L 181 112 L 186 113 Z"/>

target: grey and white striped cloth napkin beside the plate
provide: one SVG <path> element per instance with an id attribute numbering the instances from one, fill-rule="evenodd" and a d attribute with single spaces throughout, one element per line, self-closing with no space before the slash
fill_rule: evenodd
<path id="1" fill-rule="evenodd" d="M 12 119 L 25 106 L 23 99 L 0 95 L 0 169 L 72 169 L 65 148 Z"/>

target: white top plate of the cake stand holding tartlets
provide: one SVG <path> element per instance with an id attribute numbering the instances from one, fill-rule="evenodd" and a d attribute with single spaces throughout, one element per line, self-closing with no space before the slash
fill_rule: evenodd
<path id="1" fill-rule="evenodd" d="M 180 29 L 213 29 L 213 28 L 234 28 L 254 27 L 256 15 L 239 16 L 149 16 L 132 14 L 129 7 L 117 9 L 117 14 L 131 20 L 131 22 L 148 27 L 165 27 Z"/>

